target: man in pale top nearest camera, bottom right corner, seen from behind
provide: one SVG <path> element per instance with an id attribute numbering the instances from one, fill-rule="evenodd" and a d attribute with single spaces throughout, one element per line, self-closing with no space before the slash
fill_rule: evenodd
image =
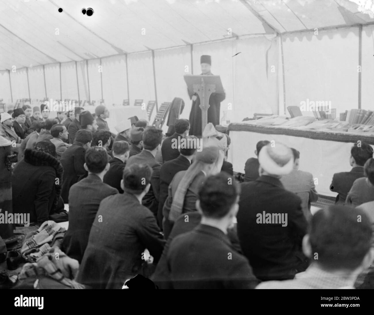
<path id="1" fill-rule="evenodd" d="M 262 282 L 257 289 L 353 289 L 359 273 L 373 262 L 370 242 L 364 211 L 341 205 L 319 210 L 303 239 L 310 266 L 292 280 Z"/>

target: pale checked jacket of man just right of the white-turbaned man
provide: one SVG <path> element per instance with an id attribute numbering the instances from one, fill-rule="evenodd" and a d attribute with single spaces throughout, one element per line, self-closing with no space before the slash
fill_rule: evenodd
<path id="1" fill-rule="evenodd" d="M 309 172 L 294 169 L 288 175 L 282 176 L 281 183 L 285 189 L 300 197 L 301 210 L 303 210 L 306 219 L 309 221 L 312 218 L 310 203 L 318 200 L 313 175 Z"/>

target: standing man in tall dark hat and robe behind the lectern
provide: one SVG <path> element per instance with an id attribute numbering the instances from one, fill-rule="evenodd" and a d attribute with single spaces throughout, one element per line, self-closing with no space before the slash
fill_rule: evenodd
<path id="1" fill-rule="evenodd" d="M 200 64 L 201 64 L 201 75 L 212 76 L 211 73 L 211 56 L 202 55 L 200 57 Z M 188 90 L 188 95 L 190 99 L 192 99 L 192 108 L 190 113 L 190 135 L 201 136 L 201 123 L 202 123 L 202 115 L 201 115 L 201 108 L 200 108 L 200 98 L 197 93 L 194 93 L 191 90 Z M 220 124 L 220 109 L 221 109 L 221 102 L 226 98 L 226 93 L 212 93 L 209 97 L 209 108 L 208 108 L 208 123 L 211 122 L 214 126 Z"/>

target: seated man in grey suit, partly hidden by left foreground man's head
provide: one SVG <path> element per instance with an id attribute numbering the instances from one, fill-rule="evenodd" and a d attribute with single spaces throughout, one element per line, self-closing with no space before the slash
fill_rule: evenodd
<path id="1" fill-rule="evenodd" d="M 157 210 L 159 208 L 161 165 L 156 161 L 155 156 L 161 147 L 162 130 L 157 129 L 154 126 L 148 127 L 144 130 L 142 137 L 142 152 L 129 158 L 126 163 L 126 168 L 133 164 L 147 164 L 152 168 L 151 188 L 144 196 L 142 205 L 151 210 L 154 216 L 157 217 Z"/>

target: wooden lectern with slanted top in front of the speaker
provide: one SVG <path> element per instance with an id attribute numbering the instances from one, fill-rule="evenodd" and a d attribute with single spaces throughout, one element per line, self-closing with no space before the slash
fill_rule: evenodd
<path id="1" fill-rule="evenodd" d="M 220 76 L 200 75 L 194 76 L 186 74 L 184 81 L 187 83 L 187 88 L 195 92 L 200 98 L 201 108 L 201 132 L 204 131 L 208 124 L 208 108 L 209 97 L 212 93 L 224 93 Z"/>

